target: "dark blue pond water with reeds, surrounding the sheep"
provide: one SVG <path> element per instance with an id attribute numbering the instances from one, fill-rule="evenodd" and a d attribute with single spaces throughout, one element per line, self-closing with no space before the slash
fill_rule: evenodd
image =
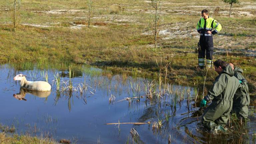
<path id="1" fill-rule="evenodd" d="M 22 73 L 27 75 L 29 81 L 45 81 L 43 75 L 46 71 L 48 82 L 52 85 L 51 93 L 20 89 L 19 82 L 13 80 L 16 74 Z M 19 71 L 3 65 L 0 69 L 0 122 L 15 126 L 17 134 L 43 135 L 56 140 L 64 138 L 78 144 L 165 144 L 169 139 L 171 143 L 254 142 L 255 113 L 252 113 L 251 121 L 244 128 L 231 123 L 228 127 L 233 127 L 229 128 L 228 134 L 211 135 L 205 132 L 200 124 L 203 110 L 195 106 L 192 87 L 171 85 L 161 100 L 157 95 L 150 100 L 146 96 L 146 89 L 149 89 L 151 79 L 111 75 L 97 68 L 74 71 L 71 79 L 73 92 L 68 92 L 65 90 L 69 82 L 68 70 L 35 68 Z M 57 91 L 54 78 L 57 73 L 61 76 L 60 91 Z M 85 85 L 83 93 L 80 93 L 79 84 Z M 159 91 L 157 84 L 155 91 Z M 109 102 L 112 95 L 115 100 Z M 126 100 L 127 97 L 138 96 Z M 162 128 L 153 129 L 153 123 L 159 121 Z M 105 125 L 118 122 L 150 124 Z M 135 129 L 139 136 L 132 136 L 131 129 Z"/>

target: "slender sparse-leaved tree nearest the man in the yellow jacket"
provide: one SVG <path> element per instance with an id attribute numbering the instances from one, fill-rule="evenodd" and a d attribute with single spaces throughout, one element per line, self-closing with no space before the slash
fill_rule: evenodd
<path id="1" fill-rule="evenodd" d="M 159 31 L 161 29 L 161 24 L 163 23 L 163 19 L 157 11 L 161 8 L 161 0 L 150 0 L 151 6 L 154 8 L 154 14 L 151 15 L 151 19 L 149 22 L 149 28 L 153 31 L 154 34 L 154 41 L 155 41 L 155 49 L 156 49 L 156 43 L 157 43 L 157 36 L 159 34 Z"/>

